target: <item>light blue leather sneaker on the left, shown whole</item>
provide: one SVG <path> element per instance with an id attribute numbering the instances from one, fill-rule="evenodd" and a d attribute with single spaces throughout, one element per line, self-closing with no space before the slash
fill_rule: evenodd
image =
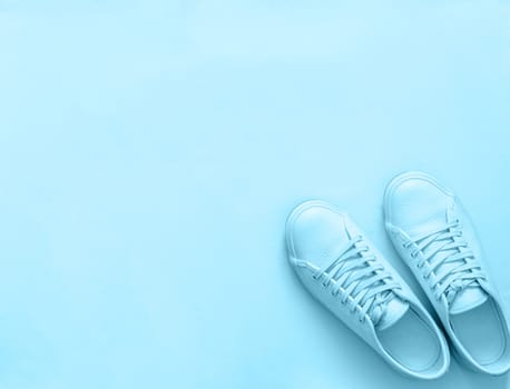
<path id="1" fill-rule="evenodd" d="M 287 219 L 286 241 L 305 288 L 390 366 L 422 379 L 448 370 L 442 332 L 345 213 L 322 201 L 304 202 Z"/>

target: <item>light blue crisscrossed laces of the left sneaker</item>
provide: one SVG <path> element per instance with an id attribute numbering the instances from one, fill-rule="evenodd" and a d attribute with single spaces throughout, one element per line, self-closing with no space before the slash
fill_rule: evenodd
<path id="1" fill-rule="evenodd" d="M 362 237 L 351 239 L 339 257 L 313 277 L 322 279 L 324 287 L 332 285 L 331 293 L 340 293 L 342 303 L 347 303 L 352 313 L 357 310 L 360 322 L 364 322 L 367 316 L 374 326 L 384 315 L 388 302 L 394 298 L 392 290 L 400 289 L 391 275 L 376 262 L 375 256 L 370 253 L 370 248 L 363 245 Z"/>

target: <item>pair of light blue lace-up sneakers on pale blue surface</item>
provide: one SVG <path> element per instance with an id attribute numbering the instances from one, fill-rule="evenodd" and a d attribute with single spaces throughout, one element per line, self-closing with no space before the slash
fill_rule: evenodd
<path id="1" fill-rule="evenodd" d="M 384 218 L 458 359 L 489 375 L 509 371 L 508 323 L 457 197 L 425 173 L 403 173 L 385 190 Z M 306 289 L 393 368 L 422 379 L 448 370 L 443 331 L 347 215 L 306 201 L 290 215 L 286 241 Z"/>

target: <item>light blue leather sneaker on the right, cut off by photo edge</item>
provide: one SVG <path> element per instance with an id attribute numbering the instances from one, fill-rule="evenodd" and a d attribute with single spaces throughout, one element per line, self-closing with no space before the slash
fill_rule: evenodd
<path id="1" fill-rule="evenodd" d="M 432 302 L 459 359 L 477 371 L 507 372 L 508 323 L 457 197 L 434 178 L 408 172 L 388 186 L 384 213 L 395 249 Z"/>

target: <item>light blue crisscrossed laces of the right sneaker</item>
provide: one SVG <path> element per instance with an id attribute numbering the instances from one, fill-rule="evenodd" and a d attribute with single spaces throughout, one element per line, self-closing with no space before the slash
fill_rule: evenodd
<path id="1" fill-rule="evenodd" d="M 459 291 L 469 286 L 475 286 L 478 280 L 486 279 L 480 262 L 462 236 L 459 219 L 444 227 L 415 236 L 403 246 L 409 248 L 413 245 L 414 250 L 411 251 L 411 257 L 418 258 L 421 252 L 422 256 L 416 266 L 422 269 L 428 263 L 428 267 L 422 270 L 422 276 L 424 279 L 431 279 L 430 287 L 434 290 L 438 300 L 444 293 L 448 302 L 452 302 Z M 438 256 L 440 252 L 445 256 Z M 445 263 L 452 263 L 454 267 L 443 267 Z"/>

